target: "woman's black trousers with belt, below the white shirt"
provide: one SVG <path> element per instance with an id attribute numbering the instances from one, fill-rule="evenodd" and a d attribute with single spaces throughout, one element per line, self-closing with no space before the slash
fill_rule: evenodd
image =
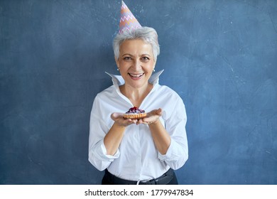
<path id="1" fill-rule="evenodd" d="M 102 185 L 136 185 L 136 181 L 127 181 L 114 176 L 106 169 L 102 179 Z M 178 185 L 178 180 L 172 168 L 165 172 L 162 176 L 150 181 L 141 181 L 140 185 Z"/>

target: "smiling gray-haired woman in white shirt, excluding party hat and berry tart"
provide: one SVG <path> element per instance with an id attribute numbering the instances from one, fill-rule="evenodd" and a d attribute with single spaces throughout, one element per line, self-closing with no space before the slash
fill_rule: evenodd
<path id="1" fill-rule="evenodd" d="M 121 74 L 94 99 L 89 130 L 89 161 L 105 171 L 102 184 L 178 184 L 173 170 L 188 159 L 187 117 L 182 99 L 152 75 L 158 35 L 141 27 L 118 34 L 114 55 Z M 148 112 L 124 119 L 131 107 Z"/>

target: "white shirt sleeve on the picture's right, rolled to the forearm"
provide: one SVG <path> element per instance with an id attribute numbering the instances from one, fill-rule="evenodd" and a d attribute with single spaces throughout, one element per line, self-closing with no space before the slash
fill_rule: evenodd
<path id="1" fill-rule="evenodd" d="M 178 169 L 188 160 L 188 139 L 185 130 L 187 115 L 182 99 L 178 97 L 175 102 L 173 112 L 165 115 L 165 129 L 170 134 L 171 143 L 165 155 L 158 152 L 158 158 L 165 161 L 170 168 Z"/>

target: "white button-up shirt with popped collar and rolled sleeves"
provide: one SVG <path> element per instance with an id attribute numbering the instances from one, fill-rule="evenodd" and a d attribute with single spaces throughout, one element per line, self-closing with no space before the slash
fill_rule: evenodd
<path id="1" fill-rule="evenodd" d="M 131 124 L 126 127 L 116 154 L 107 155 L 104 136 L 114 124 L 111 114 L 124 113 L 134 107 L 119 90 L 124 79 L 120 75 L 109 74 L 114 85 L 95 97 L 89 122 L 89 162 L 99 171 L 107 168 L 119 178 L 143 181 L 158 178 L 169 168 L 178 169 L 188 160 L 185 105 L 176 92 L 158 84 L 161 72 L 163 71 L 150 77 L 149 82 L 153 84 L 153 89 L 139 108 L 146 112 L 163 109 L 160 120 L 171 138 L 168 151 L 164 155 L 159 153 L 147 124 Z"/>

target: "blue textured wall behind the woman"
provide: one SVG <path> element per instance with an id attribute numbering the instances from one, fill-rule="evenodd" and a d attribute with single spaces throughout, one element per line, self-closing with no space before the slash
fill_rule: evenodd
<path id="1" fill-rule="evenodd" d="M 277 183 L 277 1 L 125 3 L 183 98 L 182 184 Z M 99 184 L 89 114 L 117 73 L 121 1 L 0 1 L 0 183 Z"/>

